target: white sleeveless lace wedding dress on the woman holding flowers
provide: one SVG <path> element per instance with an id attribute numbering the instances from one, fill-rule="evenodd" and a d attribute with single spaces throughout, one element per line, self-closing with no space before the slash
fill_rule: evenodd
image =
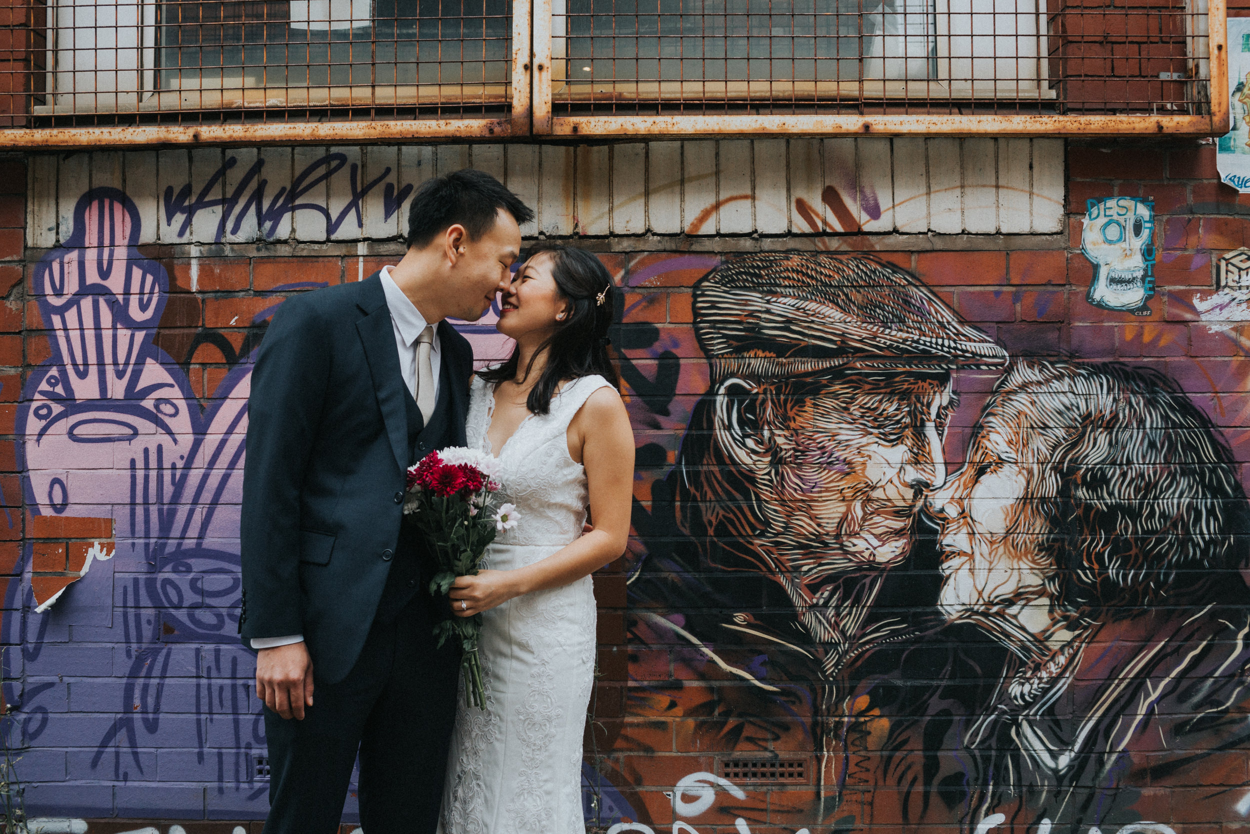
<path id="1" fill-rule="evenodd" d="M 545 559 L 581 535 L 586 474 L 566 431 L 602 376 L 566 383 L 551 410 L 529 415 L 499 451 L 499 503 L 516 505 L 484 565 L 509 570 Z M 468 443 L 491 451 L 494 386 L 474 378 Z M 479 651 L 486 709 L 465 706 L 451 736 L 440 834 L 584 834 L 581 738 L 595 669 L 590 576 L 525 594 L 486 611 Z"/>

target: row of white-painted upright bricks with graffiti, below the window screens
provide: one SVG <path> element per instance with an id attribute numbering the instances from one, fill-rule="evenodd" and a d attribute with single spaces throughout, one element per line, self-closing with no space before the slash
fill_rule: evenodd
<path id="1" fill-rule="evenodd" d="M 696 235 L 1062 228 L 1062 140 L 869 136 L 48 154 L 31 158 L 29 239 L 62 241 L 89 185 L 130 195 L 145 244 L 396 239 L 411 191 L 470 164 L 534 206 L 526 235 L 672 235 L 695 223 Z"/>

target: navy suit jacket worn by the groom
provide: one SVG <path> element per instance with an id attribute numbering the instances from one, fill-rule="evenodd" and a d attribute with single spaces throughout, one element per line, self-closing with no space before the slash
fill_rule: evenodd
<path id="1" fill-rule="evenodd" d="M 464 445 L 472 349 L 446 321 L 439 343 Z M 241 635 L 302 634 L 325 683 L 360 655 L 399 549 L 409 396 L 379 274 L 274 314 L 248 404 Z"/>

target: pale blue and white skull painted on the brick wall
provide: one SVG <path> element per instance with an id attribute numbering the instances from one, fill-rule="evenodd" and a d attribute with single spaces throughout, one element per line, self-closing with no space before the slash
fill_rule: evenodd
<path id="1" fill-rule="evenodd" d="M 1150 315 L 1155 294 L 1154 204 L 1136 198 L 1090 200 L 1085 211 L 1081 251 L 1094 264 L 1085 296 L 1106 310 Z"/>

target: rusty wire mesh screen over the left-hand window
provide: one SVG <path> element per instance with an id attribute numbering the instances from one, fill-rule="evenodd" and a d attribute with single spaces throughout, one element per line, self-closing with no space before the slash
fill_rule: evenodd
<path id="1" fill-rule="evenodd" d="M 10 124 L 498 118 L 511 0 L 28 0 Z M 0 103 L 2 105 L 2 103 Z"/>

